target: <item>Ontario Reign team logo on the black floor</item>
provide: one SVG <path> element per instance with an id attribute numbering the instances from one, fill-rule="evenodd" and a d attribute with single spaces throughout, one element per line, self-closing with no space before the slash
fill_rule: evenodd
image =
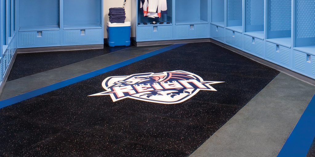
<path id="1" fill-rule="evenodd" d="M 196 74 L 180 70 L 140 73 L 108 77 L 102 83 L 106 91 L 89 96 L 110 95 L 114 102 L 131 98 L 154 103 L 176 104 L 188 100 L 199 90 L 217 91 L 211 84 L 218 83 L 223 82 L 203 81 Z"/>

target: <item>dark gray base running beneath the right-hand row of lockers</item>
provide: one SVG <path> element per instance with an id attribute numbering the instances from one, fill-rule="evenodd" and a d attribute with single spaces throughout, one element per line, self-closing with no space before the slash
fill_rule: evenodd
<path id="1" fill-rule="evenodd" d="M 294 72 L 294 71 L 292 71 L 292 70 L 290 70 L 290 69 L 281 67 L 281 66 L 279 66 L 279 65 L 277 65 L 277 64 L 274 64 L 274 63 L 269 62 L 269 61 L 266 61 L 266 60 L 264 60 L 264 59 L 262 59 L 262 58 L 256 57 L 256 56 L 254 56 L 254 55 L 251 55 L 251 54 L 249 54 L 249 53 L 246 53 L 246 52 L 244 52 L 244 51 L 242 51 L 242 50 L 239 50 L 239 49 L 237 49 L 237 48 L 234 48 L 234 47 L 232 47 L 232 46 L 228 46 L 228 45 L 226 45 L 226 44 L 224 44 L 224 43 L 221 43 L 221 42 L 219 42 L 219 41 L 210 39 L 210 42 L 215 43 L 215 44 L 217 44 L 217 45 L 219 45 L 219 46 L 222 46 L 222 47 L 224 47 L 224 48 L 226 48 L 226 49 L 228 49 L 228 50 L 231 50 L 231 51 L 233 51 L 233 52 L 235 52 L 235 53 L 238 53 L 238 54 L 240 54 L 240 55 L 242 55 L 242 56 L 245 56 L 245 57 L 247 57 L 247 58 L 249 58 L 249 59 L 251 59 L 251 60 L 254 60 L 254 61 L 256 61 L 256 62 L 259 62 L 259 63 L 261 63 L 261 64 L 264 64 L 264 65 L 266 65 L 266 66 L 268 66 L 268 67 L 274 68 L 274 69 L 276 69 L 276 70 L 278 70 L 278 71 L 280 71 L 280 72 L 283 72 L 283 73 L 285 73 L 285 74 L 287 74 L 287 75 L 289 75 L 289 76 L 292 76 L 292 77 L 294 77 L 294 78 L 297 78 L 297 79 L 299 79 L 299 80 L 301 80 L 301 81 L 304 81 L 304 82 L 306 82 L 306 83 L 315 85 L 315 80 L 312 79 L 312 78 L 309 78 L 309 77 L 304 76 L 304 75 L 302 75 L 302 74 L 296 73 L 296 72 Z"/>

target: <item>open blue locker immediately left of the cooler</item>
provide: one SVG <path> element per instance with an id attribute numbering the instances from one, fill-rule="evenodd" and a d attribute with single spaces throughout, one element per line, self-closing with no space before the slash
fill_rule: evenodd
<path id="1" fill-rule="evenodd" d="M 62 44 L 103 44 L 103 1 L 63 0 Z"/>

